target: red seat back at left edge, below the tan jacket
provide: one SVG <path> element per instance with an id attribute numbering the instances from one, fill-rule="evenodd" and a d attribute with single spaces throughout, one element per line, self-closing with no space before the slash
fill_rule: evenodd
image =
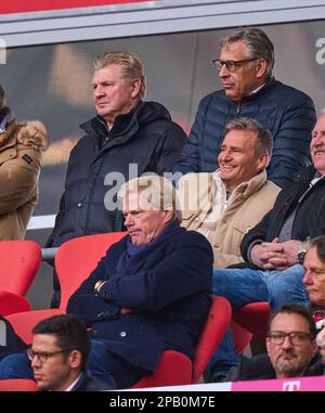
<path id="1" fill-rule="evenodd" d="M 0 291 L 24 296 L 41 262 L 41 248 L 34 241 L 0 241 Z"/>

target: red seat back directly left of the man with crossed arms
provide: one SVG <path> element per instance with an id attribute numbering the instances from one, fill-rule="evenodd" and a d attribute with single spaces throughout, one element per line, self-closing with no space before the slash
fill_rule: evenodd
<path id="1" fill-rule="evenodd" d="M 55 270 L 60 280 L 62 298 L 60 308 L 65 311 L 69 297 L 96 268 L 107 249 L 126 232 L 109 232 L 80 236 L 62 244 L 55 256 Z"/>

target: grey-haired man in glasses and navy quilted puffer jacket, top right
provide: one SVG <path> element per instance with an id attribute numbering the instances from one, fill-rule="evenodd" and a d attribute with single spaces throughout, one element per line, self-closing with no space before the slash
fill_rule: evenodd
<path id="1" fill-rule="evenodd" d="M 273 135 L 268 177 L 284 186 L 294 180 L 296 171 L 310 164 L 309 143 L 316 120 L 312 100 L 272 76 L 274 48 L 258 28 L 239 29 L 227 36 L 213 64 L 223 89 L 199 103 L 174 171 L 212 172 L 224 126 L 245 116 L 258 120 Z"/>

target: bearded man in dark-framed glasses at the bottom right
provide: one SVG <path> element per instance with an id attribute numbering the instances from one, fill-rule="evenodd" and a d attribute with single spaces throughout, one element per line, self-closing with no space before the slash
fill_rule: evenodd
<path id="1" fill-rule="evenodd" d="M 302 306 L 284 305 L 271 314 L 266 336 L 268 354 L 243 357 L 226 380 L 289 378 L 322 374 L 311 365 L 316 361 L 316 326 L 311 311 Z"/>

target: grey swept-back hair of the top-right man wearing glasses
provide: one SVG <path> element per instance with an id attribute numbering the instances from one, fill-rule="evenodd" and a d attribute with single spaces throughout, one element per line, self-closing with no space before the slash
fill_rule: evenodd
<path id="1" fill-rule="evenodd" d="M 221 41 L 221 48 L 236 41 L 245 41 L 250 59 L 264 59 L 268 64 L 266 76 L 272 75 L 274 46 L 263 30 L 256 27 L 239 28 Z"/>

